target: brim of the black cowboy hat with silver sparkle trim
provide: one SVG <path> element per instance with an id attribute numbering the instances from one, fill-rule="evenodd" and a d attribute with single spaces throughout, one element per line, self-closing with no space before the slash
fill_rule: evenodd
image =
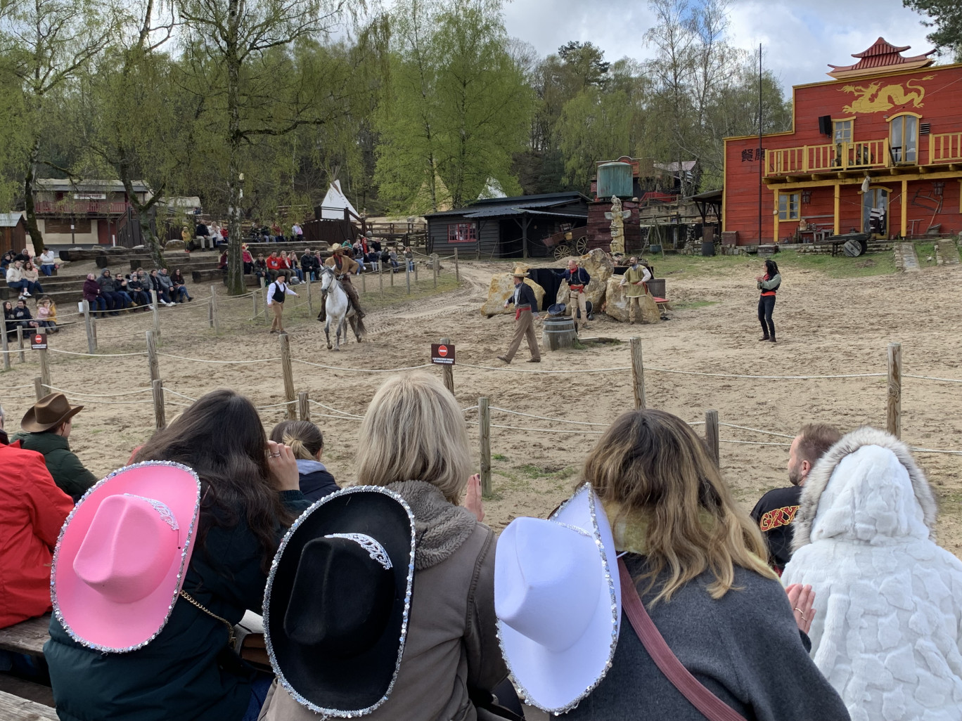
<path id="1" fill-rule="evenodd" d="M 356 655 L 318 651 L 291 637 L 285 617 L 295 597 L 302 551 L 330 535 L 367 535 L 391 559 L 394 600 L 384 631 Z M 264 631 L 267 655 L 291 698 L 315 713 L 354 717 L 380 707 L 391 694 L 404 654 L 414 584 L 415 518 L 387 488 L 344 488 L 305 510 L 284 536 L 267 576 Z M 350 594 L 350 588 L 335 592 Z"/>

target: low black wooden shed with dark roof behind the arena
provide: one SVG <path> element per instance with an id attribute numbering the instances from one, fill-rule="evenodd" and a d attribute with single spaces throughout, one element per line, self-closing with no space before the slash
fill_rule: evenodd
<path id="1" fill-rule="evenodd" d="M 544 258 L 544 237 L 588 222 L 588 198 L 576 190 L 488 198 L 467 208 L 425 215 L 429 252 L 455 248 L 478 258 Z"/>

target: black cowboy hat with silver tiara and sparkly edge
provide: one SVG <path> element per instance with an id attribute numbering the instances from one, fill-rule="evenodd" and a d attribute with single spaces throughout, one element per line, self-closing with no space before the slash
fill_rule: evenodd
<path id="1" fill-rule="evenodd" d="M 267 654 L 291 698 L 358 716 L 383 704 L 404 653 L 414 514 L 392 491 L 345 488 L 294 522 L 264 596 Z"/>

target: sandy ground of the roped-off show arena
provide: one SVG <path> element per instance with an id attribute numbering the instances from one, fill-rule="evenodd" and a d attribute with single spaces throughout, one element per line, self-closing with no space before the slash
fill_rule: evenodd
<path id="1" fill-rule="evenodd" d="M 598 315 L 584 336 L 627 340 L 641 336 L 646 360 L 646 395 L 649 407 L 670 410 L 689 421 L 700 421 L 707 409 L 719 410 L 722 422 L 793 435 L 798 426 L 824 420 L 850 430 L 871 423 L 884 428 L 886 381 L 884 378 L 818 380 L 753 380 L 676 375 L 654 368 L 747 375 L 830 375 L 884 373 L 886 346 L 902 343 L 905 374 L 962 379 L 962 288 L 960 269 L 933 268 L 914 274 L 883 275 L 834 280 L 817 271 L 784 272 L 774 320 L 778 343 L 759 343 L 755 319 L 757 294 L 752 278 L 757 262 L 734 270 L 720 268 L 710 277 L 671 275 L 668 295 L 680 310 L 671 321 L 657 325 L 628 326 Z M 325 347 L 323 328 L 306 317 L 291 323 L 294 359 L 355 370 L 329 370 L 294 363 L 296 390 L 311 399 L 350 414 L 365 411 L 384 373 L 364 370 L 416 366 L 429 360 L 432 342 L 449 336 L 457 347 L 454 369 L 456 396 L 461 406 L 477 404 L 487 396 L 494 407 L 523 413 L 606 424 L 633 406 L 628 370 L 603 370 L 629 364 L 627 342 L 598 344 L 584 350 L 545 353 L 540 365 L 524 362 L 522 344 L 510 370 L 489 370 L 470 365 L 503 364 L 495 360 L 507 348 L 513 316 L 482 317 L 478 308 L 486 296 L 493 273 L 506 263 L 462 262 L 461 286 L 438 296 L 405 301 L 368 315 L 369 335 L 364 343 L 342 345 L 341 353 Z M 445 267 L 445 273 L 451 268 Z M 423 283 L 423 277 L 422 277 Z M 403 279 L 401 281 L 403 284 Z M 303 286 L 297 288 L 302 290 Z M 196 296 L 206 294 L 191 287 Z M 368 286 L 368 297 L 376 294 Z M 303 298 L 301 300 L 304 300 Z M 716 305 L 684 308 L 695 301 Z M 73 309 L 60 309 L 65 314 Z M 291 309 L 293 310 L 293 309 Z M 221 334 L 208 327 L 207 303 L 199 299 L 161 312 L 164 353 L 192 359 L 259 360 L 279 357 L 277 336 L 267 328 L 244 320 L 251 315 L 249 297 L 221 296 L 218 312 Z M 290 313 L 289 313 L 290 314 Z M 304 312 L 306 316 L 306 309 Z M 63 320 L 74 318 L 63 317 Z M 151 327 L 150 313 L 99 323 L 99 352 L 143 351 L 144 331 Z M 538 327 L 541 333 L 540 326 Z M 83 324 L 52 336 L 51 347 L 82 352 L 87 349 Z M 17 429 L 22 414 L 34 400 L 33 383 L 39 375 L 36 353 L 3 374 L 0 403 L 7 411 L 7 429 Z M 564 374 L 547 371 L 600 369 L 592 373 Z M 523 371 L 523 372 L 522 372 Z M 533 371 L 533 372 L 530 372 Z M 150 394 L 110 395 L 149 385 L 143 355 L 89 359 L 51 354 L 51 385 L 66 389 L 74 403 L 86 408 L 75 419 L 70 443 L 88 467 L 103 475 L 121 466 L 131 450 L 150 435 L 154 414 Z M 429 372 L 440 373 L 439 368 Z M 218 386 L 241 390 L 259 407 L 284 401 L 279 360 L 255 363 L 202 363 L 161 357 L 165 386 L 190 398 Z M 15 387 L 12 387 L 15 386 Z M 168 420 L 182 407 L 167 396 Z M 107 405 L 107 401 L 111 405 Z M 962 419 L 957 412 L 962 384 L 906 378 L 902 385 L 902 438 L 910 445 L 962 451 Z M 339 413 L 312 407 L 312 416 L 325 435 L 325 455 L 342 484 L 353 478 L 353 457 L 364 451 L 354 417 L 320 417 Z M 262 411 L 267 429 L 284 417 L 283 408 Z M 468 412 L 468 420 L 477 414 Z M 517 515 L 544 515 L 553 509 L 577 481 L 579 469 L 603 426 L 577 426 L 492 412 L 492 423 L 514 429 L 492 429 L 494 498 L 486 505 L 487 521 L 503 528 Z M 470 426 L 477 447 L 477 426 Z M 697 427 L 700 433 L 701 427 Z M 572 431 L 542 434 L 535 429 Z M 722 439 L 787 443 L 790 438 L 761 435 L 722 427 Z M 722 470 L 738 499 L 750 509 L 767 489 L 787 484 L 783 445 L 722 443 Z M 938 540 L 962 557 L 962 456 L 918 454 L 935 489 L 941 514 Z"/>

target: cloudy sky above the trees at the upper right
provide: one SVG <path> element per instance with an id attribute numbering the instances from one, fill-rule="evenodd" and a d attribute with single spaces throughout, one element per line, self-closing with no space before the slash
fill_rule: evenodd
<path id="1" fill-rule="evenodd" d="M 504 14 L 508 33 L 541 55 L 568 40 L 590 40 L 607 60 L 651 56 L 643 40 L 652 25 L 645 0 L 513 0 Z M 729 33 L 747 50 L 761 42 L 765 64 L 787 89 L 826 80 L 828 62 L 855 62 L 850 55 L 879 36 L 924 53 L 931 46 L 920 18 L 901 0 L 732 0 Z"/>

